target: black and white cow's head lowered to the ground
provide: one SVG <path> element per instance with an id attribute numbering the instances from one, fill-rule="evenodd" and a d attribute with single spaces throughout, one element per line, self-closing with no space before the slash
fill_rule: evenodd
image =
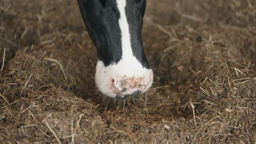
<path id="1" fill-rule="evenodd" d="M 97 88 L 112 98 L 146 92 L 153 83 L 142 44 L 146 0 L 77 0 L 97 49 Z"/>

